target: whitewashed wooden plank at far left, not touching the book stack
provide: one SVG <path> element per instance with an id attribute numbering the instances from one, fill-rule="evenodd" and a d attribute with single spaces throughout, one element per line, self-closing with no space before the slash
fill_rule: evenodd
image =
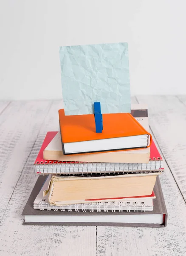
<path id="1" fill-rule="evenodd" d="M 0 220 L 51 106 L 36 103 L 14 101 L 0 115 Z"/>

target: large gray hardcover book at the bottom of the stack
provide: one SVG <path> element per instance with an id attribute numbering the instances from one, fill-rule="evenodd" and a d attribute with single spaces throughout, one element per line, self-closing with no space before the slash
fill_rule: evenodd
<path id="1" fill-rule="evenodd" d="M 34 209 L 37 197 L 47 176 L 39 176 L 34 189 L 25 205 L 22 215 L 25 216 L 24 225 L 79 225 L 79 226 L 121 226 L 121 227 L 166 227 L 167 210 L 159 177 L 156 179 L 153 199 L 153 211 L 63 211 Z"/>

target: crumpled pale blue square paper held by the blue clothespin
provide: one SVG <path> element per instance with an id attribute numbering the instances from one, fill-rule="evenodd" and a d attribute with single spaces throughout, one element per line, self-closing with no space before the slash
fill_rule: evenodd
<path id="1" fill-rule="evenodd" d="M 65 115 L 130 113 L 128 44 L 59 47 Z"/>

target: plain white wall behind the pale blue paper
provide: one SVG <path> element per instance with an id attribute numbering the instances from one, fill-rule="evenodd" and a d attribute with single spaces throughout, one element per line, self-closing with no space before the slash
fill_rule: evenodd
<path id="1" fill-rule="evenodd" d="M 0 0 L 0 99 L 62 98 L 59 46 L 114 42 L 132 95 L 186 94 L 185 0 Z"/>

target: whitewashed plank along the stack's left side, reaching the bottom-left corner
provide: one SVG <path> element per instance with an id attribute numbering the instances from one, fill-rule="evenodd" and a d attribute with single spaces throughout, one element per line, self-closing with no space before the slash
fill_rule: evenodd
<path id="1" fill-rule="evenodd" d="M 2 255 L 10 252 L 14 255 L 31 256 L 96 255 L 96 227 L 22 225 L 21 213 L 37 180 L 37 177 L 34 177 L 34 160 L 47 131 L 59 129 L 58 109 L 62 106 L 61 101 L 54 101 L 51 106 L 11 196 L 1 221 L 0 251 Z"/>

